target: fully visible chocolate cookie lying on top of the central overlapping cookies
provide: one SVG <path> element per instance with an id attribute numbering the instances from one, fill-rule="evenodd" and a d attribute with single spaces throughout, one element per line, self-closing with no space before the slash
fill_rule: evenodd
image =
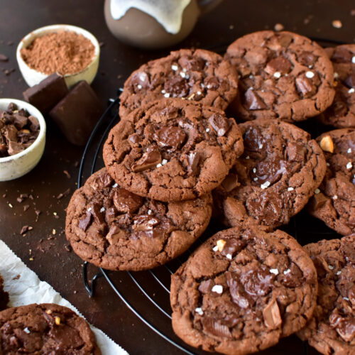
<path id="1" fill-rule="evenodd" d="M 110 175 L 126 190 L 181 201 L 217 187 L 242 152 L 239 128 L 223 111 L 161 99 L 111 129 L 103 156 Z"/>

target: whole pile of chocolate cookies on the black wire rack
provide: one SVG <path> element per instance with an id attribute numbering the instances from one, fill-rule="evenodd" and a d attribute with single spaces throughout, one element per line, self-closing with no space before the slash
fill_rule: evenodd
<path id="1" fill-rule="evenodd" d="M 213 204 L 229 229 L 173 275 L 176 334 L 249 354 L 299 332 L 323 354 L 354 354 L 354 72 L 353 47 L 273 31 L 224 58 L 178 50 L 142 65 L 124 84 L 105 168 L 67 209 L 73 250 L 109 270 L 154 268 L 192 245 Z M 314 140 L 295 126 L 314 116 L 342 129 Z M 345 237 L 302 248 L 275 229 L 306 205 Z"/>

